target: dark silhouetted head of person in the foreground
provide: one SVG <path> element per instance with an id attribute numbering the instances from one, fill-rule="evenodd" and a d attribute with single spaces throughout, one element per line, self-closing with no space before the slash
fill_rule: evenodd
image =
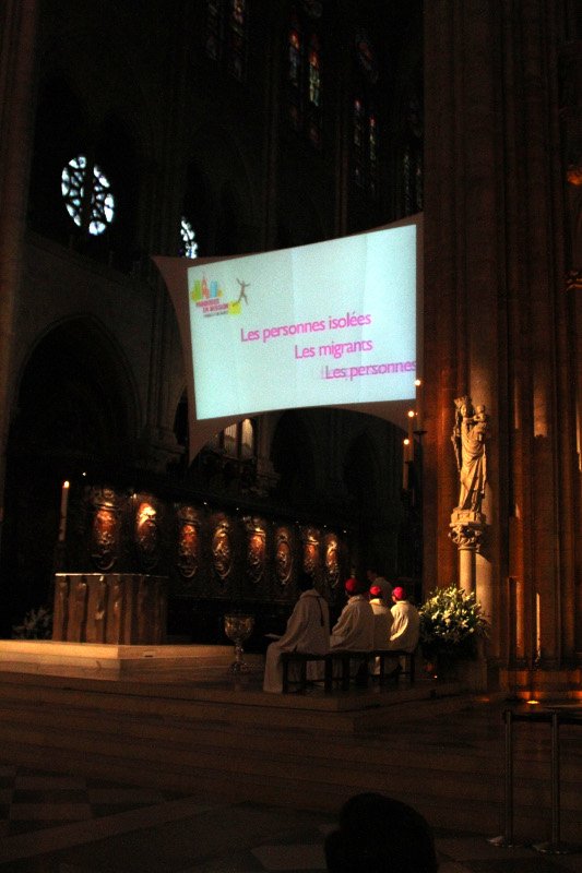
<path id="1" fill-rule="evenodd" d="M 437 873 L 432 832 L 419 812 L 383 794 L 344 803 L 340 827 L 325 837 L 329 873 Z"/>

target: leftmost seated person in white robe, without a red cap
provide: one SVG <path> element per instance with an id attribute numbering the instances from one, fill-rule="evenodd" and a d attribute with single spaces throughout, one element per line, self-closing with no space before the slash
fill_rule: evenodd
<path id="1" fill-rule="evenodd" d="M 266 649 L 263 691 L 283 691 L 282 651 L 310 651 L 326 655 L 330 649 L 330 609 L 326 600 L 313 587 L 311 577 L 304 574 L 298 583 L 301 595 L 295 603 L 283 636 Z M 297 679 L 299 668 L 289 665 L 289 679 Z M 323 675 L 323 665 L 319 661 L 307 665 L 307 678 L 319 680 Z"/>

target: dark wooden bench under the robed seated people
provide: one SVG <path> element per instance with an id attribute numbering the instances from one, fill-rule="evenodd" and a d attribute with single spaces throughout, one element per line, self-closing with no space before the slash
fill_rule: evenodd
<path id="1" fill-rule="evenodd" d="M 402 649 L 371 649 L 370 651 L 354 649 L 334 649 L 328 655 L 316 655 L 311 651 L 282 651 L 281 663 L 283 666 L 283 694 L 288 694 L 292 685 L 297 685 L 297 691 L 307 689 L 307 665 L 310 661 L 323 662 L 323 690 L 326 694 L 333 691 L 335 684 L 340 684 L 343 691 L 349 689 L 352 681 L 352 661 L 359 661 L 358 681 L 368 684 L 370 678 L 370 663 L 378 658 L 380 672 L 378 683 L 385 685 L 389 681 L 397 681 L 399 678 L 408 677 L 408 682 L 414 685 L 415 680 L 415 651 L 403 651 Z M 397 670 L 400 659 L 404 660 L 404 668 Z M 393 663 L 392 670 L 387 670 L 387 663 Z M 290 665 L 299 667 L 299 678 L 289 678 Z M 394 675 L 393 671 L 397 670 Z"/>

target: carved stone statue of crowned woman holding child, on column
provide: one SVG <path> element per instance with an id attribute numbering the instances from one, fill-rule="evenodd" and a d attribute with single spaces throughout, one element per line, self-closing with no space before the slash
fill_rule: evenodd
<path id="1" fill-rule="evenodd" d="M 471 397 L 458 397 L 451 440 L 461 482 L 458 511 L 482 512 L 487 481 L 489 416 L 485 406 L 473 407 Z"/>

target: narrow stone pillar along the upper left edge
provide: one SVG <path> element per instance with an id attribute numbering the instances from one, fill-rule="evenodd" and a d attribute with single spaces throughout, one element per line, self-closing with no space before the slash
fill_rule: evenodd
<path id="1" fill-rule="evenodd" d="M 0 547 L 14 326 L 33 140 L 36 16 L 36 0 L 5 0 L 0 5 Z"/>

